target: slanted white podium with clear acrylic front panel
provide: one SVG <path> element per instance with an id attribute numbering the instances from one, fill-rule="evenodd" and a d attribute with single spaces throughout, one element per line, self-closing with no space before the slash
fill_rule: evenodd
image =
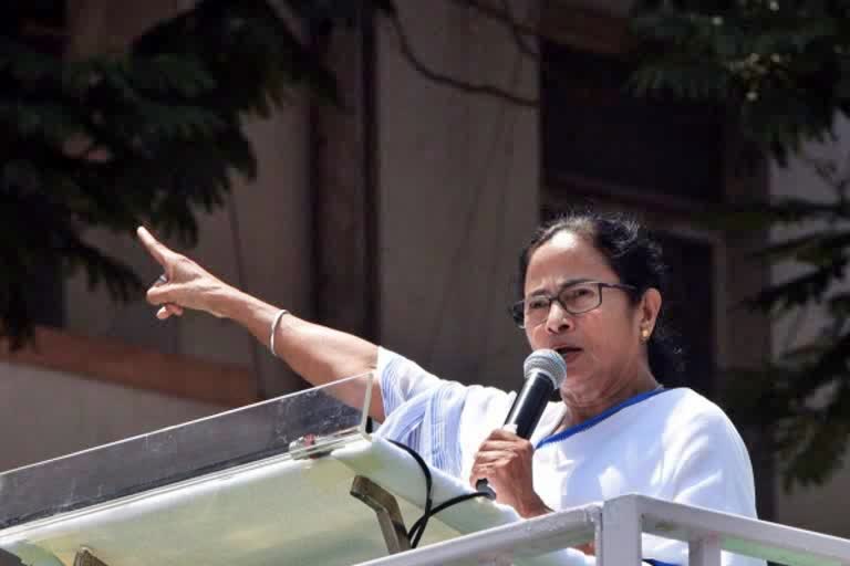
<path id="1" fill-rule="evenodd" d="M 425 475 L 367 431 L 371 386 L 356 376 L 0 473 L 0 566 L 332 566 L 404 552 Z M 471 492 L 429 472 L 435 505 Z M 419 547 L 516 521 L 469 499 L 431 517 Z"/>

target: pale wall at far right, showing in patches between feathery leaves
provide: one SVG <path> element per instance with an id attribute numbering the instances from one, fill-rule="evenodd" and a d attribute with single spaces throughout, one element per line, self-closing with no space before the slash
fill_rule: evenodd
<path id="1" fill-rule="evenodd" d="M 850 122 L 838 122 L 836 132 L 839 136 L 836 143 L 810 144 L 806 153 L 812 157 L 833 159 L 839 166 L 850 165 Z M 771 193 L 774 196 L 797 196 L 808 199 L 831 201 L 835 192 L 820 180 L 811 168 L 800 160 L 792 160 L 787 169 L 774 167 L 771 170 Z M 813 224 L 797 229 L 777 229 L 771 234 L 774 240 L 792 237 L 816 228 Z M 797 265 L 781 265 L 773 270 L 775 282 L 785 281 L 800 273 Z M 842 284 L 847 287 L 847 284 Z M 775 325 L 774 353 L 779 355 L 788 346 L 800 345 L 810 339 L 821 328 L 825 322 L 821 306 L 813 305 L 797 312 Z M 844 520 L 850 506 L 850 469 L 838 472 L 826 485 L 800 489 L 785 493 L 777 485 L 776 511 L 777 521 L 804 528 L 821 531 L 839 536 L 850 537 L 850 524 Z"/>

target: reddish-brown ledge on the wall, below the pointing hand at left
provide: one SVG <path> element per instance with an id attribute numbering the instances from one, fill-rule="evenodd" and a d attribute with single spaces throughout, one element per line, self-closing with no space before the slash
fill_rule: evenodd
<path id="1" fill-rule="evenodd" d="M 222 407 L 240 407 L 259 400 L 256 380 L 242 366 L 162 354 L 55 328 L 38 327 L 34 343 L 14 353 L 10 352 L 8 340 L 0 340 L 0 361 Z"/>

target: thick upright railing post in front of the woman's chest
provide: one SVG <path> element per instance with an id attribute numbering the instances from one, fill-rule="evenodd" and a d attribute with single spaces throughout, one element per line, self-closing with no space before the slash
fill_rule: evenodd
<path id="1" fill-rule="evenodd" d="M 607 501 L 602 506 L 602 547 L 599 566 L 641 564 L 641 513 L 634 497 Z"/>

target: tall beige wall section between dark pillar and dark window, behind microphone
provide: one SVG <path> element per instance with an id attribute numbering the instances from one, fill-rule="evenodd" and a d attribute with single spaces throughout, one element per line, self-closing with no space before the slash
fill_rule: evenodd
<path id="1" fill-rule="evenodd" d="M 536 96 L 536 65 L 506 29 L 454 2 L 398 10 L 431 67 Z M 538 220 L 537 112 L 424 80 L 381 31 L 382 340 L 444 377 L 516 388 L 528 347 L 506 306 Z"/>

